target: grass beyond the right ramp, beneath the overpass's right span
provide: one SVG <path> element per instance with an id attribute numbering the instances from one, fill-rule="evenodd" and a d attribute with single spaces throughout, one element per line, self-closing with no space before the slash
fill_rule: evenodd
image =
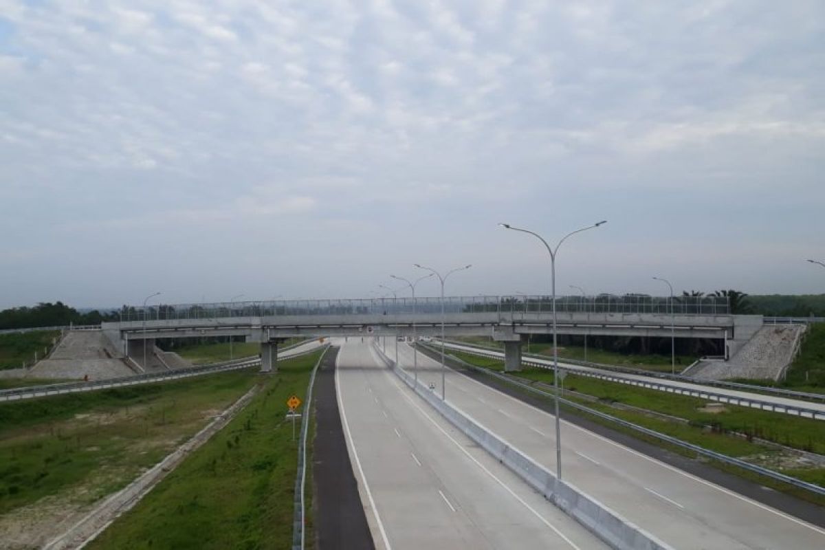
<path id="1" fill-rule="evenodd" d="M 457 340 L 504 349 L 502 342 L 493 341 L 493 339 L 486 337 L 470 336 Z M 521 342 L 521 351 L 527 353 L 526 341 Z M 530 355 L 544 355 L 550 359 L 553 357 L 553 344 L 548 342 L 530 342 Z M 559 346 L 559 359 L 586 360 L 584 346 Z M 685 369 L 696 359 L 696 357 L 690 355 L 676 355 L 676 373 L 681 371 L 681 369 Z M 592 347 L 587 348 L 587 361 L 612 364 L 630 369 L 653 370 L 666 373 L 671 372 L 672 369 L 670 355 L 625 355 L 616 351 L 599 350 Z"/>

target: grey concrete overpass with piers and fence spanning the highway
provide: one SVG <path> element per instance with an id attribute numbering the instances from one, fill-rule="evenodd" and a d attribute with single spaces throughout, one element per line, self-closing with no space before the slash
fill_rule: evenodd
<path id="1" fill-rule="evenodd" d="M 197 303 L 124 308 L 102 329 L 125 355 L 139 360 L 144 341 L 241 336 L 262 343 L 262 370 L 276 360 L 277 343 L 313 336 L 492 336 L 507 360 L 521 361 L 522 335 L 550 334 L 549 296 L 469 296 L 398 299 L 318 299 Z M 733 355 L 762 326 L 762 317 L 732 315 L 726 297 L 561 296 L 559 334 L 660 336 L 724 340 Z"/>

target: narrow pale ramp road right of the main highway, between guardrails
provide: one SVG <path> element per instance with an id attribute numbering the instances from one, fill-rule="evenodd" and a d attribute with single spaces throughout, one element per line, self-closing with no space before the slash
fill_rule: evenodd
<path id="1" fill-rule="evenodd" d="M 441 341 L 434 341 L 434 345 L 441 346 Z M 457 351 L 468 351 L 472 353 L 483 353 L 484 355 L 488 355 L 489 357 L 499 357 L 502 360 L 504 359 L 504 353 L 502 351 L 494 351 L 494 350 L 487 350 L 484 348 L 479 348 L 476 346 L 469 346 L 464 344 L 455 344 L 453 342 L 446 342 L 445 348 L 449 350 L 457 350 Z M 525 360 L 527 358 L 524 358 Z M 548 367 L 553 366 L 553 360 L 549 359 L 538 359 L 535 356 L 530 356 L 530 361 L 535 361 L 535 363 L 543 364 Z M 741 390 L 729 389 L 729 388 L 718 388 L 718 387 L 709 387 L 707 385 L 701 383 L 690 383 L 690 382 L 681 382 L 678 380 L 669 380 L 667 378 L 655 378 L 652 379 L 650 377 L 646 377 L 643 374 L 627 374 L 627 373 L 620 373 L 614 370 L 606 370 L 606 369 L 595 369 L 593 367 L 585 367 L 580 364 L 569 364 L 563 363 L 559 361 L 559 367 L 563 367 L 564 369 L 568 369 L 571 371 L 580 371 L 580 372 L 590 372 L 596 374 L 605 374 L 609 375 L 614 378 L 625 379 L 628 381 L 633 381 L 634 383 L 650 383 L 651 381 L 660 384 L 662 386 L 671 387 L 671 388 L 684 388 L 690 389 L 697 392 L 703 393 L 717 393 L 720 395 L 728 396 L 728 397 L 735 397 L 735 398 L 742 398 L 742 399 L 752 399 L 757 402 L 766 402 L 766 403 L 775 403 L 777 406 L 780 407 L 800 407 L 803 409 L 818 411 L 817 418 L 818 419 L 825 419 L 825 403 L 823 402 L 810 402 L 810 401 L 803 401 L 801 399 L 793 399 L 790 397 L 779 397 L 775 395 L 770 395 L 766 393 L 752 393 L 752 392 L 743 392 Z M 655 389 L 655 388 L 654 388 Z M 709 400 L 714 400 L 713 396 L 707 397 Z M 742 403 L 743 407 L 747 407 L 744 403 Z M 759 408 L 759 407 L 755 407 Z M 783 412 L 782 409 L 778 409 L 777 412 Z M 819 413 L 822 413 L 820 415 Z M 790 414 L 790 413 L 789 413 Z M 796 416 L 794 414 L 794 416 Z M 805 416 L 805 415 L 802 415 Z M 810 417 L 810 415 L 808 415 Z"/>

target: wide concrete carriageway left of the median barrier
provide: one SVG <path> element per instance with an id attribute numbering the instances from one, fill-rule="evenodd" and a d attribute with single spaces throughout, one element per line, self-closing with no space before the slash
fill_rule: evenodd
<path id="1" fill-rule="evenodd" d="M 607 548 L 404 386 L 369 338 L 336 343 L 338 408 L 376 548 Z"/>

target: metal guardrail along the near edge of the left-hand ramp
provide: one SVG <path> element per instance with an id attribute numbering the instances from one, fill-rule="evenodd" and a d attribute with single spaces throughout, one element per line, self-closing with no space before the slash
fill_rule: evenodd
<path id="1" fill-rule="evenodd" d="M 294 359 L 295 357 L 314 353 L 316 350 L 317 348 L 302 351 L 300 353 L 290 355 L 289 357 L 282 357 L 279 355 L 278 360 Z M 144 383 L 163 382 L 166 380 L 190 378 L 192 376 L 200 376 L 203 374 L 214 374 L 230 370 L 248 369 L 259 364 L 261 364 L 261 359 L 259 357 L 253 357 L 252 359 L 225 361 L 223 363 L 209 364 L 202 367 L 171 369 L 163 371 L 162 373 L 135 374 L 134 376 L 121 376 L 118 378 L 92 380 L 89 382 L 68 382 L 4 389 L 0 390 L 0 402 L 21 401 L 23 399 L 33 399 L 35 397 L 63 395 L 64 393 L 91 392 L 98 389 L 122 388 L 125 386 L 135 386 Z"/>

